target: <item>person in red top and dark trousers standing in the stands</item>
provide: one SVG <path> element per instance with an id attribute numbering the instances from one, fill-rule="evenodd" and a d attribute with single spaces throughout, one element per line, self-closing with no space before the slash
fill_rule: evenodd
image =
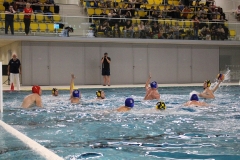
<path id="1" fill-rule="evenodd" d="M 25 25 L 25 34 L 28 36 L 30 23 L 31 23 L 31 15 L 33 13 L 32 8 L 30 8 L 30 3 L 26 3 L 26 8 L 23 10 L 24 13 L 24 25 Z"/>

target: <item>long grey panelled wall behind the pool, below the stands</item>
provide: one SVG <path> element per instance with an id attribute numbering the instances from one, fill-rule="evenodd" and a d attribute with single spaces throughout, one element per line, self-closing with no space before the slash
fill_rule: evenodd
<path id="1" fill-rule="evenodd" d="M 212 46 L 22 42 L 23 85 L 102 84 L 100 59 L 111 57 L 111 84 L 145 83 L 149 72 L 159 83 L 214 79 L 219 48 Z"/>

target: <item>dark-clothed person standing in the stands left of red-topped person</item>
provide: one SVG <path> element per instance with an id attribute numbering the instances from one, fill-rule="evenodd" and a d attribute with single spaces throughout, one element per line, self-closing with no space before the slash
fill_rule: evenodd
<path id="1" fill-rule="evenodd" d="M 8 34 L 8 28 L 10 26 L 11 33 L 14 35 L 13 18 L 16 11 L 13 9 L 13 6 L 10 5 L 9 8 L 5 10 L 5 13 L 5 34 Z"/>

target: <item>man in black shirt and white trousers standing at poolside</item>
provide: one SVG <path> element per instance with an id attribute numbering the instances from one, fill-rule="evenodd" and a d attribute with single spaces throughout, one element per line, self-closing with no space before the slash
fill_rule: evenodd
<path id="1" fill-rule="evenodd" d="M 16 80 L 17 90 L 20 90 L 19 74 L 21 74 L 21 62 L 14 53 L 12 59 L 8 62 L 8 76 L 10 76 L 10 84 Z"/>

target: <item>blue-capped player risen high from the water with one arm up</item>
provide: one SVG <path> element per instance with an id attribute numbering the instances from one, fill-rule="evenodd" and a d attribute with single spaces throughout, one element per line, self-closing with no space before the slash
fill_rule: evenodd
<path id="1" fill-rule="evenodd" d="M 153 81 L 150 83 L 150 86 L 148 86 L 149 82 L 151 80 L 151 75 L 149 74 L 149 78 L 146 81 L 145 89 L 146 89 L 146 95 L 144 97 L 144 100 L 153 100 L 153 99 L 160 99 L 160 94 L 158 93 L 157 87 L 158 84 L 156 81 Z"/>

